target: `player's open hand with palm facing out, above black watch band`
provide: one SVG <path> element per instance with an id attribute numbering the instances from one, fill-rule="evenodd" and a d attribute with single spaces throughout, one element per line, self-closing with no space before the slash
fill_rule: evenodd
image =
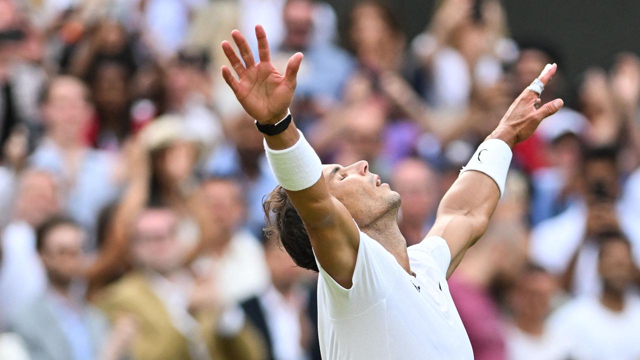
<path id="1" fill-rule="evenodd" d="M 255 26 L 255 37 L 258 39 L 260 62 L 255 63 L 249 44 L 240 31 L 231 33 L 240 51 L 244 64 L 228 41 L 222 42 L 222 49 L 227 55 L 238 79 L 234 78 L 227 66 L 222 67 L 222 77 L 236 94 L 253 119 L 260 124 L 275 124 L 287 116 L 287 108 L 291 105 L 293 92 L 296 90 L 296 75 L 300 69 L 302 53 L 296 53 L 289 59 L 284 75 L 280 74 L 271 63 L 269 42 L 262 26 Z"/>

